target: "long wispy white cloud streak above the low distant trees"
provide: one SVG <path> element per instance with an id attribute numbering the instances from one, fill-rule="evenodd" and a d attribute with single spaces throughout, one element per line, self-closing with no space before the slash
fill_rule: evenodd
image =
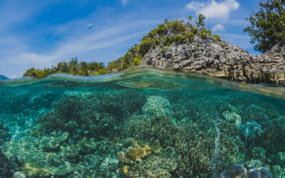
<path id="1" fill-rule="evenodd" d="M 54 62 L 67 58 L 67 56 L 71 58 L 72 56 L 94 51 L 96 49 L 112 47 L 115 44 L 119 44 L 120 42 L 124 42 L 130 38 L 141 36 L 145 33 L 145 31 L 140 31 L 127 36 L 119 36 L 119 38 L 108 39 L 111 34 L 117 34 L 119 31 L 122 31 L 122 29 L 111 28 L 91 35 L 79 36 L 76 39 L 60 44 L 58 49 L 49 53 L 19 53 L 19 55 L 16 56 L 16 59 L 21 60 L 13 60 L 10 62 L 17 65 L 36 63 L 40 66 L 49 66 Z"/>

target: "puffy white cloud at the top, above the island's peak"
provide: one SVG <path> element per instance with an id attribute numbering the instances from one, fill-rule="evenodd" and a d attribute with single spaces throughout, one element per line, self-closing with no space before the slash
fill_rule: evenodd
<path id="1" fill-rule="evenodd" d="M 218 20 L 227 20 L 232 10 L 237 10 L 240 3 L 236 0 L 225 0 L 217 2 L 215 0 L 208 1 L 207 3 L 197 3 L 192 1 L 186 5 L 187 10 L 194 10 L 196 14 L 203 14 L 207 18 L 216 18 Z"/>

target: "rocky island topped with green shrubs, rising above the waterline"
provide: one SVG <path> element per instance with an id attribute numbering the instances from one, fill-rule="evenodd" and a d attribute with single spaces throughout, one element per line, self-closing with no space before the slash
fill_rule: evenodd
<path id="1" fill-rule="evenodd" d="M 280 42 L 262 55 L 248 51 L 220 39 L 205 29 L 205 16 L 200 15 L 195 25 L 189 21 L 166 21 L 150 31 L 140 44 L 135 44 L 124 57 L 104 67 L 102 63 L 58 63 L 44 70 L 30 68 L 23 76 L 43 78 L 54 73 L 71 75 L 101 75 L 134 67 L 155 66 L 171 71 L 203 73 L 234 81 L 255 84 L 285 83 L 285 46 Z"/>

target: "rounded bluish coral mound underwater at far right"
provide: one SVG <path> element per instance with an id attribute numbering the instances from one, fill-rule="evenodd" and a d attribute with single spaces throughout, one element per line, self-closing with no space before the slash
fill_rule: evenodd
<path id="1" fill-rule="evenodd" d="M 256 140 L 260 138 L 262 134 L 261 125 L 256 123 L 255 121 L 248 121 L 247 123 L 244 123 L 240 125 L 240 137 L 244 142 L 253 142 L 253 140 Z"/>

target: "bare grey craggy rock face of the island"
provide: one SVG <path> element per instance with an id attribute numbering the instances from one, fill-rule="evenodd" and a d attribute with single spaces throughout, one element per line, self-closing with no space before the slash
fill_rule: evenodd
<path id="1" fill-rule="evenodd" d="M 196 36 L 190 44 L 172 43 L 167 49 L 150 50 L 140 65 L 251 83 L 284 84 L 285 45 L 277 44 L 263 55 L 250 55 L 225 40 Z"/>

